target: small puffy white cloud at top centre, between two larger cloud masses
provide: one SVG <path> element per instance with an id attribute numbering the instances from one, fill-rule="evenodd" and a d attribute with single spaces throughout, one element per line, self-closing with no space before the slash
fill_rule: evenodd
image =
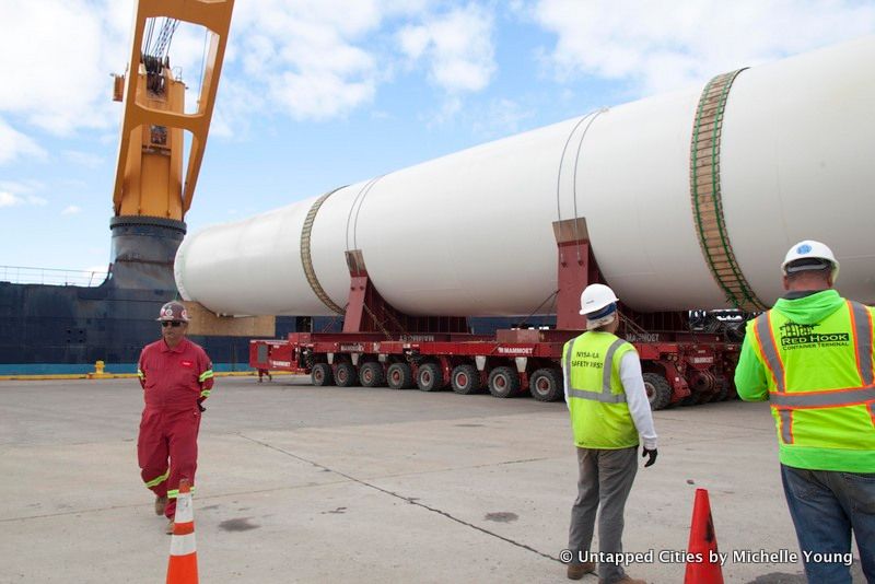
<path id="1" fill-rule="evenodd" d="M 405 26 L 397 38 L 409 59 L 428 61 L 429 78 L 447 93 L 477 92 L 495 72 L 493 26 L 492 12 L 470 3 Z"/>

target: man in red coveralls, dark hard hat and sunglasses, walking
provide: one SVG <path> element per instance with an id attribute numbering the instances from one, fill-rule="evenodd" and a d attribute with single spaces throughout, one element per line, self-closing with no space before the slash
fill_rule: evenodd
<path id="1" fill-rule="evenodd" d="M 201 405 L 210 395 L 212 363 L 198 344 L 185 338 L 188 313 L 178 302 L 161 307 L 162 339 L 147 344 L 137 374 L 143 387 L 143 417 L 137 458 L 145 486 L 155 493 L 155 514 L 170 519 L 173 533 L 179 480 L 195 489 Z"/>

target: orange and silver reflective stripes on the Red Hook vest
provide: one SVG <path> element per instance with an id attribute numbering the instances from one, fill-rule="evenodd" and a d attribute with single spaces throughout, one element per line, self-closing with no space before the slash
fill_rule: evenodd
<path id="1" fill-rule="evenodd" d="M 778 343 L 772 329 L 771 311 L 759 316 L 754 323 L 757 343 L 762 358 L 775 382 L 777 390 L 769 392 L 769 400 L 781 420 L 781 439 L 785 444 L 793 444 L 793 411 L 801 409 L 837 408 L 843 406 L 863 406 L 875 401 L 875 379 L 873 379 L 872 314 L 863 304 L 847 301 L 853 330 L 853 343 L 856 367 L 862 387 L 824 389 L 814 392 L 788 392 L 786 371 L 784 370 Z M 873 419 L 875 421 L 875 419 Z"/>

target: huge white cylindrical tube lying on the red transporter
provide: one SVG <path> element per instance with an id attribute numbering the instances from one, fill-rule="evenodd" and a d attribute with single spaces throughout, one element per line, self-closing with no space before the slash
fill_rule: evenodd
<path id="1" fill-rule="evenodd" d="M 728 90 L 716 165 L 727 243 L 766 304 L 781 293 L 784 253 L 803 238 L 836 252 L 842 293 L 875 303 L 873 70 L 867 37 L 745 70 Z M 343 187 L 312 227 L 315 198 L 208 227 L 180 246 L 177 284 L 218 313 L 329 315 L 319 295 L 346 305 L 345 252 L 361 249 L 377 290 L 405 313 L 528 314 L 557 287 L 552 223 L 576 215 L 632 308 L 730 306 L 690 198 L 701 93 L 595 112 Z"/>

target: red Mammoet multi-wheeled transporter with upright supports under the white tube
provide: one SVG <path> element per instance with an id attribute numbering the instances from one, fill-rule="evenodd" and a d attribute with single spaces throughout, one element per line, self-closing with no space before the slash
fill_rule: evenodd
<path id="1" fill-rule="evenodd" d="M 556 329 L 498 330 L 470 335 L 465 317 L 416 317 L 388 305 L 368 277 L 360 250 L 347 253 L 351 285 L 342 332 L 292 332 L 285 340 L 253 340 L 249 364 L 311 375 L 314 385 L 394 389 L 447 386 L 458 394 L 488 389 L 495 397 L 528 392 L 552 401 L 563 396 L 562 347 L 585 330 L 580 293 L 602 280 L 585 224 L 563 222 L 558 241 Z M 637 314 L 621 307 L 618 335 L 641 358 L 653 409 L 735 396 L 732 376 L 739 346 L 723 335 L 696 331 L 689 313 Z"/>

